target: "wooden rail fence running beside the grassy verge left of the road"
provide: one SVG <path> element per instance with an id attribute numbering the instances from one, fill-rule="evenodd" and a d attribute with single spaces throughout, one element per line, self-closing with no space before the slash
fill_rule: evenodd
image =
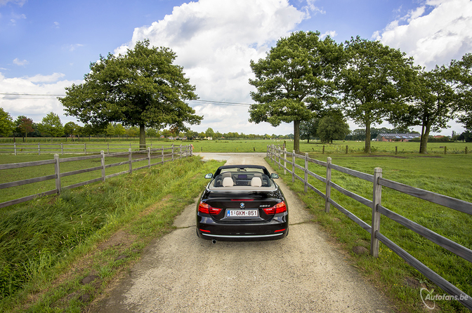
<path id="1" fill-rule="evenodd" d="M 142 158 L 133 159 L 133 154 L 135 154 L 135 156 L 136 154 L 147 154 L 147 155 Z M 118 162 L 114 164 L 105 165 L 105 155 L 107 158 L 116 157 L 116 156 L 128 156 L 128 161 L 122 161 L 122 162 Z M 54 159 L 51 159 L 51 160 L 22 162 L 22 163 L 15 163 L 15 164 L 0 164 L 0 170 L 7 170 L 11 168 L 25 168 L 29 166 L 40 166 L 40 165 L 46 165 L 46 164 L 54 164 L 54 169 L 55 169 L 55 173 L 51 175 L 46 175 L 46 176 L 37 177 L 37 178 L 29 178 L 26 180 L 18 180 L 15 182 L 6 182 L 3 184 L 0 184 L 0 189 L 4 189 L 4 188 L 9 188 L 9 187 L 32 184 L 34 182 L 44 182 L 46 180 L 55 180 L 55 189 L 52 189 L 46 192 L 41 192 L 39 194 L 33 194 L 27 197 L 22 197 L 20 199 L 14 199 L 11 201 L 2 202 L 0 203 L 0 208 L 4 208 L 6 206 L 13 206 L 13 204 L 20 204 L 22 202 L 29 201 L 37 197 L 43 197 L 50 194 L 60 194 L 61 190 L 88 185 L 88 184 L 91 184 L 92 182 L 105 181 L 105 179 L 107 178 L 112 178 L 114 176 L 122 175 L 125 173 L 133 173 L 133 171 L 139 170 L 141 168 L 150 168 L 151 166 L 164 164 L 168 161 L 181 159 L 187 156 L 192 156 L 191 145 L 185 145 L 185 146 L 180 145 L 177 147 L 175 147 L 174 145 L 172 145 L 171 147 L 162 146 L 161 148 L 155 148 L 155 149 L 151 149 L 151 147 L 148 147 L 147 150 L 140 150 L 140 151 L 135 151 L 135 152 L 133 152 L 131 149 L 128 149 L 128 152 L 117 152 L 117 153 L 112 153 L 112 154 L 105 154 L 105 152 L 102 150 L 100 154 L 93 154 L 89 156 L 77 156 L 77 157 L 63 158 L 63 159 L 60 159 L 59 155 L 55 154 Z M 70 171 L 70 172 L 65 172 L 65 173 L 60 172 L 60 164 L 62 163 L 72 162 L 72 161 L 82 161 L 82 160 L 88 160 L 88 159 L 101 159 L 101 165 L 95 166 L 92 168 L 84 168 L 77 171 Z M 160 161 L 157 163 L 151 164 L 151 160 L 153 159 L 160 159 Z M 147 160 L 146 166 L 133 168 L 133 163 L 136 163 L 139 161 L 146 161 L 146 160 Z M 110 175 L 105 175 L 106 168 L 112 168 L 114 166 L 122 166 L 126 164 L 129 164 L 128 170 L 122 171 L 119 173 L 112 173 Z M 101 171 L 100 177 L 92 179 L 92 180 L 87 180 L 84 182 L 78 182 L 77 184 L 64 186 L 64 187 L 60 183 L 60 179 L 63 177 L 92 172 L 92 171 Z"/>

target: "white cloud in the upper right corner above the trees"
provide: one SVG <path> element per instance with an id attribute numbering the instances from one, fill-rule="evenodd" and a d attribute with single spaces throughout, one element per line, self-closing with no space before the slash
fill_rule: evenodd
<path id="1" fill-rule="evenodd" d="M 373 37 L 431 69 L 472 51 L 472 1 L 426 0 Z"/>

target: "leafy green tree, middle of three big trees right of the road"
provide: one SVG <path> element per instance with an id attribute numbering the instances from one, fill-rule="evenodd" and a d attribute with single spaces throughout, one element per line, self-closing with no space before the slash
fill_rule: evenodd
<path id="1" fill-rule="evenodd" d="M 412 58 L 379 41 L 351 38 L 346 41 L 346 65 L 337 82 L 343 109 L 365 127 L 365 152 L 370 153 L 370 128 L 392 112 L 401 112 L 412 95 L 416 69 Z"/>

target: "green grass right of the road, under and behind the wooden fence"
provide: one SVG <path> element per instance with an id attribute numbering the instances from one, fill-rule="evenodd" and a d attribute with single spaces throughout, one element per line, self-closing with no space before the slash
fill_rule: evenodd
<path id="1" fill-rule="evenodd" d="M 320 155 L 310 155 L 314 159 L 322 159 Z M 325 156 L 326 157 L 326 156 Z M 374 173 L 375 167 L 383 169 L 383 177 L 395 180 L 406 185 L 430 190 L 438 194 L 445 194 L 464 201 L 472 201 L 472 164 L 470 158 L 464 154 L 447 155 L 434 158 L 423 156 L 408 156 L 393 158 L 391 156 L 333 156 L 333 164 L 351 168 L 363 173 Z M 269 163 L 272 163 L 268 159 Z M 303 160 L 297 164 L 304 166 Z M 274 166 L 278 170 L 278 166 Z M 309 164 L 310 171 L 326 177 L 326 168 Z M 298 169 L 296 171 L 299 171 Z M 291 182 L 291 175 L 280 177 L 299 195 L 300 199 L 315 216 L 314 221 L 329 232 L 332 238 L 348 252 L 355 267 L 381 290 L 388 295 L 398 312 L 425 312 L 421 300 L 420 289 L 434 289 L 433 295 L 443 295 L 443 291 L 426 279 L 416 269 L 409 266 L 397 254 L 380 244 L 379 258 L 369 255 L 370 234 L 355 224 L 352 220 L 331 206 L 329 213 L 325 213 L 325 201 L 315 192 L 308 189 L 303 192 L 303 184 L 299 180 Z M 303 172 L 296 172 L 303 177 Z M 315 178 L 309 177 L 311 185 L 325 193 L 325 185 Z M 372 199 L 372 182 L 366 182 L 350 175 L 332 171 L 332 181 L 367 199 Z M 372 223 L 372 209 L 359 204 L 357 201 L 344 196 L 332 189 L 332 199 L 341 204 L 361 220 Z M 382 189 L 382 205 L 395 213 L 405 216 L 458 244 L 472 249 L 472 235 L 470 225 L 472 216 L 450 208 L 431 204 L 428 201 L 395 192 L 384 187 Z M 468 295 L 472 295 L 472 264 L 444 248 L 433 244 L 413 231 L 399 225 L 385 216 L 381 217 L 380 231 L 433 269 L 440 276 L 450 281 Z M 357 247 L 357 248 L 355 248 Z M 355 253 L 358 247 L 365 248 L 365 253 Z M 362 251 L 362 249 L 361 249 Z M 433 303 L 431 303 L 431 307 Z M 435 302 L 436 309 L 442 312 L 469 312 L 457 301 L 443 300 Z"/>

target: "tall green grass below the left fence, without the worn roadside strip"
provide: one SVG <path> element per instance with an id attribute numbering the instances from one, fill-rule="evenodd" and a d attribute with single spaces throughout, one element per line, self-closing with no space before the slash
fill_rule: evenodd
<path id="1" fill-rule="evenodd" d="M 73 258 L 101 229 L 132 224 L 136 214 L 169 194 L 178 204 L 158 222 L 171 224 L 201 192 L 203 174 L 218 165 L 181 159 L 0 211 L 0 308 L 29 281 L 46 279 L 48 269 Z"/>

